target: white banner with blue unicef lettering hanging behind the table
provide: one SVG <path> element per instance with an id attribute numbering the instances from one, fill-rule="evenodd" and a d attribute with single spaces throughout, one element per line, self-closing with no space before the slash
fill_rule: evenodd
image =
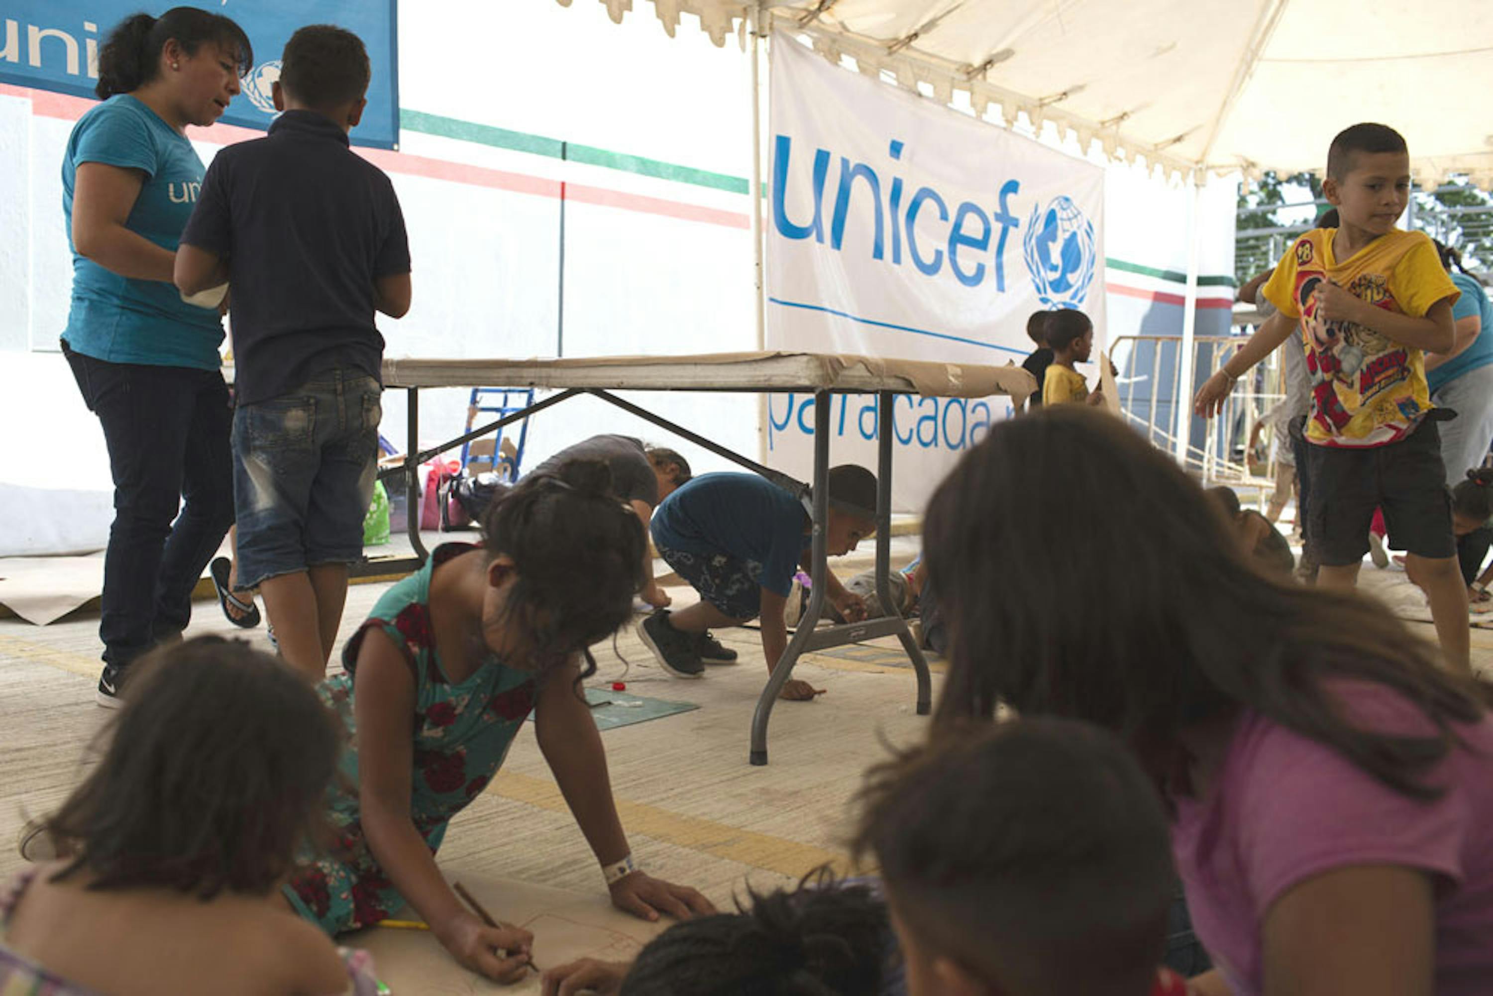
<path id="1" fill-rule="evenodd" d="M 1102 340 L 1103 169 L 772 42 L 769 348 L 1005 366 L 1056 308 Z M 1009 411 L 899 396 L 896 508 Z M 767 461 L 808 479 L 812 399 L 769 396 L 767 417 Z M 876 466 L 873 396 L 836 397 L 830 429 L 835 463 Z"/>

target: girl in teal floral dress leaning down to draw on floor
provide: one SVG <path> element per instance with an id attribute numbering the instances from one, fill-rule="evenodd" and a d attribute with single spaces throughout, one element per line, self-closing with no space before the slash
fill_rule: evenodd
<path id="1" fill-rule="evenodd" d="M 646 920 L 714 912 L 696 890 L 636 869 L 579 691 L 596 670 L 587 647 L 627 621 L 643 582 L 642 524 L 609 482 L 599 461 L 527 478 L 485 515 L 482 547 L 443 545 L 390 588 L 348 642 L 346 673 L 321 684 L 349 736 L 345 784 L 330 794 L 331 857 L 285 894 L 327 933 L 409 903 L 466 968 L 499 981 L 529 971 L 529 932 L 478 920 L 434 854 L 530 711 L 612 902 Z"/>

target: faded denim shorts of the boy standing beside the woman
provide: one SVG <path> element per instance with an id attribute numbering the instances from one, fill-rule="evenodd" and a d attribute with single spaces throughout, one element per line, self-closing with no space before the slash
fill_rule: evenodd
<path id="1" fill-rule="evenodd" d="M 363 560 L 363 517 L 378 476 L 379 382 L 318 373 L 233 414 L 239 584 Z"/>

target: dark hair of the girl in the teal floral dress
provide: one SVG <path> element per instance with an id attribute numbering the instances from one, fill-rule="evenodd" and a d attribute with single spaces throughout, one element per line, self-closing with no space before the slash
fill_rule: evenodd
<path id="1" fill-rule="evenodd" d="M 585 657 L 588 647 L 632 618 L 643 587 L 643 524 L 612 494 L 602 460 L 567 460 L 552 473 L 530 473 L 482 517 L 490 555 L 508 555 L 518 581 L 502 621 L 517 620 L 534 641 L 536 670 Z"/>

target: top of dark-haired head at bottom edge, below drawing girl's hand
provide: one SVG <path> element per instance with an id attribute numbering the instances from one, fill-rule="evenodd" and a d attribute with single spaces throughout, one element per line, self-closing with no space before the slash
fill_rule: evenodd
<path id="1" fill-rule="evenodd" d="M 748 891 L 738 912 L 669 927 L 639 954 L 621 996 L 867 996 L 891 953 L 885 903 L 827 869 L 799 887 Z"/>

